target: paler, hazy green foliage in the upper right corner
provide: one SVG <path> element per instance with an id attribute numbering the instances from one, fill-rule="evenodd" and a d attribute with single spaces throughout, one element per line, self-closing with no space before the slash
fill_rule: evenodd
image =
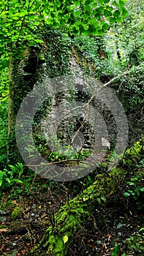
<path id="1" fill-rule="evenodd" d="M 137 66 L 143 61 L 143 6 L 144 1 L 126 2 L 129 12 L 121 24 L 114 23 L 110 26 L 105 37 L 110 59 L 113 67 L 126 69 Z"/>

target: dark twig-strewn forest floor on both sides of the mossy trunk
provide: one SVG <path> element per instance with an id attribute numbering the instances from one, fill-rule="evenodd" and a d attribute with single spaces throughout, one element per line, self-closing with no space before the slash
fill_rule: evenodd
<path id="1" fill-rule="evenodd" d="M 48 188 L 42 179 L 35 178 L 27 192 L 26 186 L 19 193 L 18 189 L 20 185 L 4 192 L 1 200 L 0 255 L 32 256 L 31 249 L 54 221 L 53 213 L 75 196 L 74 187 L 67 195 L 65 184 Z M 144 236 L 139 232 L 142 227 L 143 211 L 137 211 L 133 202 L 130 204 L 120 192 L 107 203 L 96 203 L 93 215 L 75 234 L 67 256 L 142 256 Z"/>

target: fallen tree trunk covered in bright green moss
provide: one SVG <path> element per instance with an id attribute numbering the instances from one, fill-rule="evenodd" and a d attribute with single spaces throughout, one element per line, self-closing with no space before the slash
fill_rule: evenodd
<path id="1" fill-rule="evenodd" d="M 34 249 L 46 251 L 46 255 L 65 256 L 67 246 L 72 243 L 75 234 L 80 230 L 83 222 L 93 213 L 96 200 L 101 197 L 117 195 L 118 181 L 125 181 L 126 176 L 144 158 L 144 138 L 128 149 L 121 163 L 109 173 L 96 176 L 96 181 L 83 193 L 60 208 L 54 215 L 55 225 L 48 227 L 40 244 Z"/>

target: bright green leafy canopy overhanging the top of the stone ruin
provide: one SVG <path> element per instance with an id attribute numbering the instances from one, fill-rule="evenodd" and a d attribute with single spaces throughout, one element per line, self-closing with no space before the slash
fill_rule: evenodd
<path id="1" fill-rule="evenodd" d="M 102 36 L 111 23 L 120 22 L 126 17 L 124 5 L 125 0 L 1 1 L 0 20 L 3 28 L 0 52 L 3 66 L 7 52 L 12 52 L 23 42 L 33 46 L 42 44 L 42 38 L 39 37 L 42 27 L 69 34 Z"/>

